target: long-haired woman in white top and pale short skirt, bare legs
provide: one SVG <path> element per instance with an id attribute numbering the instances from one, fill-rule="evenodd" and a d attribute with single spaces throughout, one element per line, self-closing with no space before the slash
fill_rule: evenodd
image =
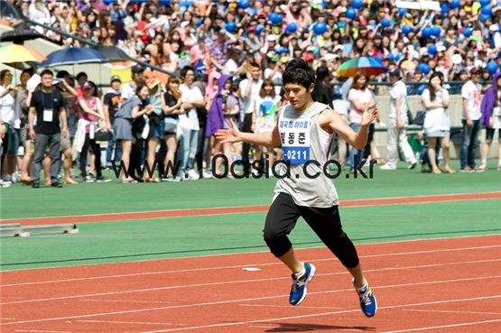
<path id="1" fill-rule="evenodd" d="M 435 160 L 435 146 L 439 139 L 443 152 L 444 171 L 447 173 L 456 172 L 449 165 L 450 117 L 447 113 L 449 92 L 443 88 L 443 81 L 444 77 L 441 72 L 433 72 L 428 81 L 428 88 L 424 89 L 421 96 L 422 104 L 426 108 L 423 127 L 428 141 L 428 157 L 432 173 L 442 173 Z"/>

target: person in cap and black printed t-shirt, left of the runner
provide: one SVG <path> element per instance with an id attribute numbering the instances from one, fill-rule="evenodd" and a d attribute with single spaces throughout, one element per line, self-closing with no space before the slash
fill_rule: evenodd
<path id="1" fill-rule="evenodd" d="M 116 144 L 115 133 L 112 131 L 113 124 L 115 123 L 115 115 L 124 102 L 122 93 L 120 92 L 121 84 L 122 79 L 120 79 L 119 76 L 112 76 L 110 80 L 111 89 L 109 89 L 105 97 L 103 97 L 103 113 L 105 114 L 105 123 L 109 131 L 109 139 L 107 142 L 107 168 L 112 167 L 112 161 L 116 164 L 119 163 L 122 155 L 122 148 L 120 144 Z"/>

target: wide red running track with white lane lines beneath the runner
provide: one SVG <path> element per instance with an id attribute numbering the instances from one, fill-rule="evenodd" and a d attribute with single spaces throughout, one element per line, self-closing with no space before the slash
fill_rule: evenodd
<path id="1" fill-rule="evenodd" d="M 307 299 L 288 304 L 289 273 L 268 253 L 2 273 L 10 332 L 501 331 L 501 236 L 358 245 L 379 303 L 360 312 L 350 278 L 323 248 Z M 258 270 L 256 270 L 258 269 Z"/>

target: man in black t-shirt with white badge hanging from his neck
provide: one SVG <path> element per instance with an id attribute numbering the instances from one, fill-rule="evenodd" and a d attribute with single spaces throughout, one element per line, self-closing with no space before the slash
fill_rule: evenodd
<path id="1" fill-rule="evenodd" d="M 47 146 L 51 151 L 51 187 L 60 188 L 60 138 L 68 135 L 65 102 L 59 89 L 52 87 L 53 74 L 45 69 L 41 73 L 42 88 L 32 94 L 28 124 L 30 137 L 35 139 L 32 167 L 32 188 L 40 187 L 40 171 Z M 36 117 L 36 125 L 34 118 Z M 60 127 L 60 119 L 62 127 Z"/>

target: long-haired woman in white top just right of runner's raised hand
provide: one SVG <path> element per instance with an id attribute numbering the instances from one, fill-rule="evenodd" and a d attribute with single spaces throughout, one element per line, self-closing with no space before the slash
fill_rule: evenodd
<path id="1" fill-rule="evenodd" d="M 353 83 L 348 91 L 348 120 L 349 126 L 355 131 L 360 130 L 362 114 L 372 107 L 376 107 L 376 100 L 369 90 L 368 80 L 365 74 L 357 73 L 353 78 Z M 357 156 L 357 158 L 356 158 Z M 351 147 L 349 150 L 349 170 L 354 171 L 364 159 L 364 151 Z"/>

